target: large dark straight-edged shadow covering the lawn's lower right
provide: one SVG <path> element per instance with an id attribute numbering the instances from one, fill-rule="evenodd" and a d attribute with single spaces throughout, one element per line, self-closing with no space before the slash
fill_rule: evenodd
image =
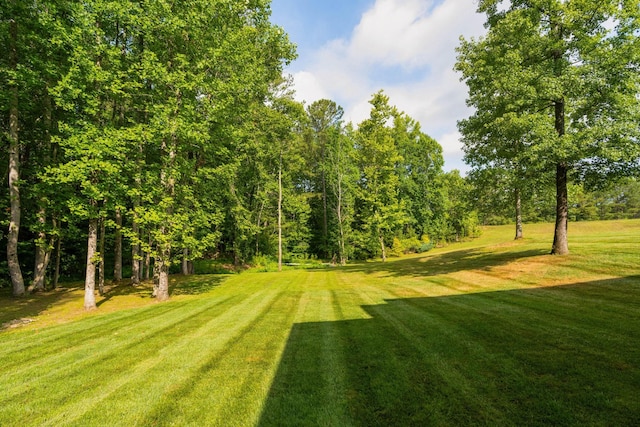
<path id="1" fill-rule="evenodd" d="M 640 425 L 638 307 L 636 276 L 296 324 L 259 425 Z"/>

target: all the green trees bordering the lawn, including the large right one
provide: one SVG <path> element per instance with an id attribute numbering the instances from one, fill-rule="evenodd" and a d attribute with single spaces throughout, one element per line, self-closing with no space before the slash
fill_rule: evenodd
<path id="1" fill-rule="evenodd" d="M 569 220 L 640 217 L 637 1 L 500 3 L 458 49 L 462 176 L 382 90 L 361 123 L 295 101 L 268 0 L 3 0 L 0 286 L 83 279 L 93 309 L 203 258 L 385 261 L 539 221 L 564 254 Z"/>

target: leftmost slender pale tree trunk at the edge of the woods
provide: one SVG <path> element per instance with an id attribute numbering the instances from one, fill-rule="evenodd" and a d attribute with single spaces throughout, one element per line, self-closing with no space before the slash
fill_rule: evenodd
<path id="1" fill-rule="evenodd" d="M 14 1 L 15 3 L 15 1 Z M 9 21 L 9 67 L 18 68 L 18 23 Z M 11 213 L 9 233 L 7 235 L 7 264 L 13 285 L 13 295 L 23 296 L 24 279 L 18 260 L 18 234 L 20 232 L 20 144 L 18 140 L 18 85 L 14 82 L 9 88 L 9 198 Z"/>

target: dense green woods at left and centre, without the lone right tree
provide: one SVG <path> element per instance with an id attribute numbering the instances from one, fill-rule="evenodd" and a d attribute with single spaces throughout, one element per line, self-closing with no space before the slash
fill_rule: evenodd
<path id="1" fill-rule="evenodd" d="M 386 257 L 477 232 L 439 144 L 378 92 L 293 100 L 269 1 L 3 0 L 0 220 L 16 296 L 257 256 Z M 107 271 L 108 270 L 108 271 Z"/>

